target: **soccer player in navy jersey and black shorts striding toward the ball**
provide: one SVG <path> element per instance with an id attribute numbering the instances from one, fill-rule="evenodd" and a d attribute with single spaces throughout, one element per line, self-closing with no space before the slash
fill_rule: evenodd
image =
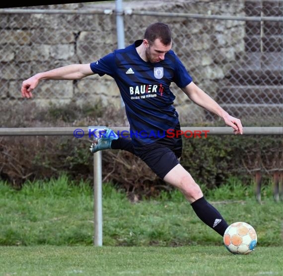
<path id="1" fill-rule="evenodd" d="M 223 236 L 228 224 L 179 162 L 181 136 L 162 136 L 168 129 L 180 131 L 170 84 L 174 82 L 196 104 L 220 116 L 235 134 L 242 134 L 243 127 L 238 118 L 229 115 L 194 84 L 171 47 L 169 26 L 156 22 L 146 28 L 142 40 L 125 49 L 115 50 L 89 64 L 67 65 L 30 77 L 23 81 L 21 93 L 30 98 L 41 80 L 79 80 L 92 74 L 113 77 L 125 103 L 132 139 L 118 137 L 111 129 L 105 129 L 104 134 L 94 140 L 91 152 L 121 149 L 140 157 L 159 178 L 178 188 L 198 217 Z"/>

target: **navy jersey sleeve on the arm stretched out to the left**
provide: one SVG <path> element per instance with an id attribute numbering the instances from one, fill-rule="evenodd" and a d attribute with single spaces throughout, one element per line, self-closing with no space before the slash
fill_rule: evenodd
<path id="1" fill-rule="evenodd" d="M 90 69 L 93 73 L 98 74 L 100 77 L 103 75 L 109 75 L 114 77 L 115 75 L 115 57 L 114 53 L 110 53 L 98 61 L 90 63 Z"/>

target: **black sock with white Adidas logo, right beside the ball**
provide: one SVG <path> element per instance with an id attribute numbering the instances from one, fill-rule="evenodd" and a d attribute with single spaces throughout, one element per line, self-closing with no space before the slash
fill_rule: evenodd
<path id="1" fill-rule="evenodd" d="M 199 198 L 191 205 L 194 211 L 196 212 L 197 216 L 204 223 L 206 223 L 209 227 L 211 227 L 221 236 L 224 236 L 224 232 L 228 227 L 227 222 L 204 197 Z"/>

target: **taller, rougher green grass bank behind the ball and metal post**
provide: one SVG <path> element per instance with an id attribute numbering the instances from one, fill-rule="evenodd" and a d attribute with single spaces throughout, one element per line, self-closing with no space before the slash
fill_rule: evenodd
<path id="1" fill-rule="evenodd" d="M 251 195 L 252 187 L 232 179 L 226 186 L 207 191 L 207 198 L 229 224 L 250 223 L 257 231 L 258 245 L 282 246 L 283 204 L 274 202 L 271 187 L 266 190 L 259 204 Z M 26 183 L 20 191 L 1 183 L 0 225 L 0 245 L 4 246 L 92 245 L 91 186 L 71 183 L 66 176 L 46 183 Z M 125 193 L 104 184 L 103 244 L 220 246 L 222 238 L 200 221 L 179 191 L 131 203 Z"/>

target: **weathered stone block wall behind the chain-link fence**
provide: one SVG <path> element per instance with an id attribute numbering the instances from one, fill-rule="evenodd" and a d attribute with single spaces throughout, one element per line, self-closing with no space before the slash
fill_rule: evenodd
<path id="1" fill-rule="evenodd" d="M 124 9 L 198 14 L 244 15 L 244 0 L 125 1 Z M 31 7 L 26 7 L 31 8 Z M 2 103 L 20 103 L 23 80 L 38 73 L 72 63 L 89 63 L 117 48 L 115 1 L 34 6 L 39 9 L 95 9 L 92 14 L 0 14 L 0 86 Z M 168 23 L 173 33 L 173 50 L 183 61 L 194 82 L 215 96 L 238 55 L 245 51 L 245 22 L 185 17 L 125 15 L 125 45 L 143 38 L 152 22 Z M 175 106 L 180 115 L 205 118 L 198 106 L 174 84 Z M 108 76 L 89 76 L 80 81 L 42 81 L 33 102 L 104 102 L 120 105 L 120 93 Z M 189 108 L 188 108 L 189 107 Z"/>

